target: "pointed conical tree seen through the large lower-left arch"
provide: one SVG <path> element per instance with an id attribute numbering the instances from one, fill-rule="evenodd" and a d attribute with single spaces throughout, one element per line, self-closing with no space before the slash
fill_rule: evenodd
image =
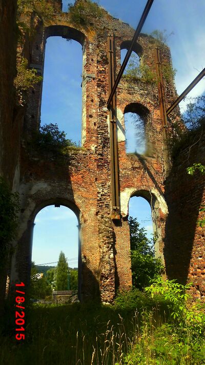
<path id="1" fill-rule="evenodd" d="M 68 262 L 65 254 L 60 251 L 56 270 L 56 290 L 68 289 Z"/>

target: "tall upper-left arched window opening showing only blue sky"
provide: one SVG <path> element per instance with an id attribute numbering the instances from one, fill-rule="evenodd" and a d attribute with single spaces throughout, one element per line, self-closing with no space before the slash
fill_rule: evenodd
<path id="1" fill-rule="evenodd" d="M 60 131 L 66 132 L 66 138 L 76 144 L 81 139 L 81 73 L 81 45 L 50 36 L 45 52 L 40 124 L 57 124 Z"/>

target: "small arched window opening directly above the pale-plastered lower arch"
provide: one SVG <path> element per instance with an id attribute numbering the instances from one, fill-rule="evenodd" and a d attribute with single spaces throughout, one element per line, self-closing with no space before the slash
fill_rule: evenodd
<path id="1" fill-rule="evenodd" d="M 131 103 L 124 111 L 126 152 L 147 155 L 149 153 L 147 141 L 147 121 L 149 111 L 138 103 Z"/>

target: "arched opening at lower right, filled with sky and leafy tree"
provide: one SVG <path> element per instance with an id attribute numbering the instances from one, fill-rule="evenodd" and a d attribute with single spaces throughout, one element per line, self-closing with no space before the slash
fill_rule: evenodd
<path id="1" fill-rule="evenodd" d="M 143 193 L 142 193 L 143 194 Z M 133 285 L 143 290 L 150 280 L 160 275 L 162 266 L 160 259 L 155 257 L 152 210 L 148 202 L 149 192 L 145 197 L 134 196 L 129 202 L 129 225 L 131 267 Z"/>

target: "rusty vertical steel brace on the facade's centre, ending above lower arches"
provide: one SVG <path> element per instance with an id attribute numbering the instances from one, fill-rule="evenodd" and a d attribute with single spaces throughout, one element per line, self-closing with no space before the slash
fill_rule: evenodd
<path id="1" fill-rule="evenodd" d="M 115 82 L 114 76 L 114 36 L 108 36 L 108 61 L 109 61 L 109 94 Z M 117 131 L 116 131 L 116 103 L 113 95 L 110 110 L 110 156 L 111 156 L 111 199 L 112 199 L 112 219 L 120 219 L 119 206 L 119 168 L 117 151 Z"/>

